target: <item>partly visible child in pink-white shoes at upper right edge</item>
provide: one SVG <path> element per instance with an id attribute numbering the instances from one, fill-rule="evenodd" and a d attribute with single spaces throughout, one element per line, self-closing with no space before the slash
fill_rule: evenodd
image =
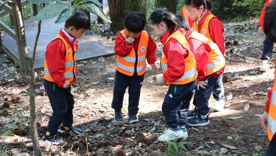
<path id="1" fill-rule="evenodd" d="M 265 6 L 263 7 L 262 13 L 260 15 L 260 20 L 259 20 L 259 33 L 263 33 L 263 16 L 265 14 L 265 9 L 266 6 L 272 2 L 272 0 L 267 0 L 265 3 Z M 261 57 L 262 63 L 261 63 L 261 68 L 260 71 L 261 72 L 266 72 L 268 70 L 268 64 L 267 64 L 267 60 L 270 60 L 270 55 L 273 51 L 273 45 L 274 42 L 270 41 L 267 37 L 265 38 L 265 40 L 263 41 L 263 56 Z"/>

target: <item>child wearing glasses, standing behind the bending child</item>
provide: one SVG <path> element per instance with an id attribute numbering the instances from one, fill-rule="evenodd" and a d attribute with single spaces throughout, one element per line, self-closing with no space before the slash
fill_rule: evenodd
<path id="1" fill-rule="evenodd" d="M 220 52 L 225 56 L 224 26 L 216 16 L 210 13 L 213 9 L 211 1 L 185 0 L 184 4 L 188 14 L 190 14 L 190 27 L 217 44 Z M 213 88 L 213 97 L 216 100 L 214 111 L 222 111 L 224 109 L 222 74 L 217 78 L 218 80 Z"/>

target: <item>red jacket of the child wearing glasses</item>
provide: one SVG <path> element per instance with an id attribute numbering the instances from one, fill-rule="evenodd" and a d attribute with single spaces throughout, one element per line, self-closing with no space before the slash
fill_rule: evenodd
<path id="1" fill-rule="evenodd" d="M 201 31 L 202 24 L 209 14 L 210 14 L 210 11 L 206 9 L 206 13 L 202 16 L 201 20 L 198 23 L 198 25 L 199 25 L 198 32 Z M 189 20 L 190 27 L 193 26 L 193 23 L 194 23 L 194 21 Z M 224 35 L 223 35 L 224 26 L 221 23 L 220 19 L 218 19 L 217 17 L 214 17 L 210 20 L 209 32 L 210 32 L 210 36 L 212 37 L 213 42 L 217 44 L 217 46 L 220 49 L 220 52 L 222 53 L 222 55 L 224 55 L 224 53 L 225 53 L 225 46 L 224 46 L 225 41 L 224 41 Z"/>

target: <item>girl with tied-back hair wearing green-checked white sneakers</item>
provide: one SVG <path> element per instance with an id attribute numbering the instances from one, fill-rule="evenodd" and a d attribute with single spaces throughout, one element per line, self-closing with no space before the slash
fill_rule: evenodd
<path id="1" fill-rule="evenodd" d="M 176 29 L 178 24 L 174 14 L 165 8 L 154 10 L 148 23 L 153 33 L 163 43 L 161 69 L 163 76 L 156 82 L 160 86 L 169 85 L 169 90 L 162 104 L 162 111 L 169 129 L 158 137 L 159 141 L 171 141 L 175 138 L 187 138 L 187 109 L 181 110 L 182 104 L 189 108 L 194 88 L 197 84 L 197 70 L 194 54 L 185 37 Z M 185 102 L 185 103 L 183 103 Z M 181 117 L 181 120 L 179 119 Z"/>

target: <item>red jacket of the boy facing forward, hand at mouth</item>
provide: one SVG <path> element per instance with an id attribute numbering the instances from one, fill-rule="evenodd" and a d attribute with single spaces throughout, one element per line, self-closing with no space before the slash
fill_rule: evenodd
<path id="1" fill-rule="evenodd" d="M 127 45 L 124 37 L 122 37 L 122 35 L 118 33 L 115 39 L 115 47 L 114 47 L 115 53 L 120 57 L 128 56 L 132 47 L 134 47 L 135 49 L 137 48 L 139 43 L 139 37 L 134 38 L 134 42 L 132 43 L 132 45 Z M 148 42 L 149 43 L 148 43 L 148 49 L 147 49 L 147 61 L 148 61 L 148 64 L 152 64 L 156 62 L 156 57 L 155 57 L 156 44 L 150 35 L 149 35 Z"/>

